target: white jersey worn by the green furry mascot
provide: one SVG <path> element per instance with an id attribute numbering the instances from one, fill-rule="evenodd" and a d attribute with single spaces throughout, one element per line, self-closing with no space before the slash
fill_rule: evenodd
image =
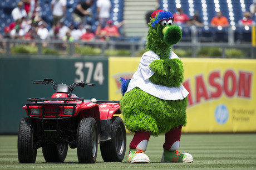
<path id="1" fill-rule="evenodd" d="M 171 51 L 169 58 L 179 59 L 179 57 L 173 51 Z M 132 79 L 127 87 L 127 92 L 131 91 L 135 87 L 139 87 L 148 94 L 163 100 L 183 100 L 186 96 L 188 96 L 189 92 L 182 84 L 180 84 L 179 87 L 168 87 L 163 85 L 155 85 L 149 80 L 149 78 L 155 73 L 149 68 L 150 63 L 154 60 L 160 60 L 160 58 L 153 51 L 147 51 L 142 55 L 139 67 L 132 76 Z"/>

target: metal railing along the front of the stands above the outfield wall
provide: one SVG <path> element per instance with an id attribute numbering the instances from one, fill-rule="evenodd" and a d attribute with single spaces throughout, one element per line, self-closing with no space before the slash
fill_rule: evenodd
<path id="1" fill-rule="evenodd" d="M 256 48 L 252 44 L 252 28 L 251 27 L 237 27 L 235 30 L 232 27 L 218 29 L 212 27 L 195 27 L 194 25 L 180 25 L 183 32 L 183 38 L 181 41 L 173 45 L 175 48 L 191 49 L 191 55 L 188 57 L 197 57 L 196 51 L 203 47 L 219 47 L 222 50 L 221 58 L 226 58 L 225 49 L 235 48 L 243 49 L 247 51 L 245 58 L 256 58 Z M 129 56 L 136 56 L 138 51 L 145 50 L 146 38 L 137 37 L 121 37 L 110 40 L 92 40 L 76 42 L 63 42 L 63 40 L 53 40 L 48 38 L 46 40 L 33 39 L 0 39 L 0 54 L 12 54 L 12 47 L 15 45 L 36 44 L 38 52 L 36 55 L 44 55 L 42 53 L 43 47 L 55 49 L 61 51 L 60 54 L 67 56 L 76 55 L 75 47 L 84 47 L 85 45 L 90 47 L 96 47 L 101 49 L 99 56 L 107 56 L 106 50 L 125 49 L 129 50 Z M 62 45 L 65 44 L 63 48 Z M 17 53 L 16 53 L 17 54 Z M 33 55 L 33 54 L 32 54 Z"/>

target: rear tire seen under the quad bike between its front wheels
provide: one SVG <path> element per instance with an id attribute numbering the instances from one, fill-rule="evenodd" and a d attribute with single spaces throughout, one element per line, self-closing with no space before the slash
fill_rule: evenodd
<path id="1" fill-rule="evenodd" d="M 68 145 L 47 145 L 42 147 L 46 162 L 63 162 L 67 156 Z"/>

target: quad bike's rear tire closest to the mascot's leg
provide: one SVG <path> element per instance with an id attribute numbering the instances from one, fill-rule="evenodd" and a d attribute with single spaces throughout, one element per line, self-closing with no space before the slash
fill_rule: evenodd
<path id="1" fill-rule="evenodd" d="M 121 117 L 113 116 L 111 141 L 100 143 L 101 156 L 105 162 L 122 162 L 126 151 L 126 130 Z"/>

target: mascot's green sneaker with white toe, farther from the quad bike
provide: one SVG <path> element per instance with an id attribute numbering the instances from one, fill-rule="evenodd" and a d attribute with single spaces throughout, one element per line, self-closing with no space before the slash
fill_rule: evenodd
<path id="1" fill-rule="evenodd" d="M 164 149 L 161 162 L 193 162 L 193 157 L 189 153 L 180 153 L 179 151 L 168 151 Z"/>

